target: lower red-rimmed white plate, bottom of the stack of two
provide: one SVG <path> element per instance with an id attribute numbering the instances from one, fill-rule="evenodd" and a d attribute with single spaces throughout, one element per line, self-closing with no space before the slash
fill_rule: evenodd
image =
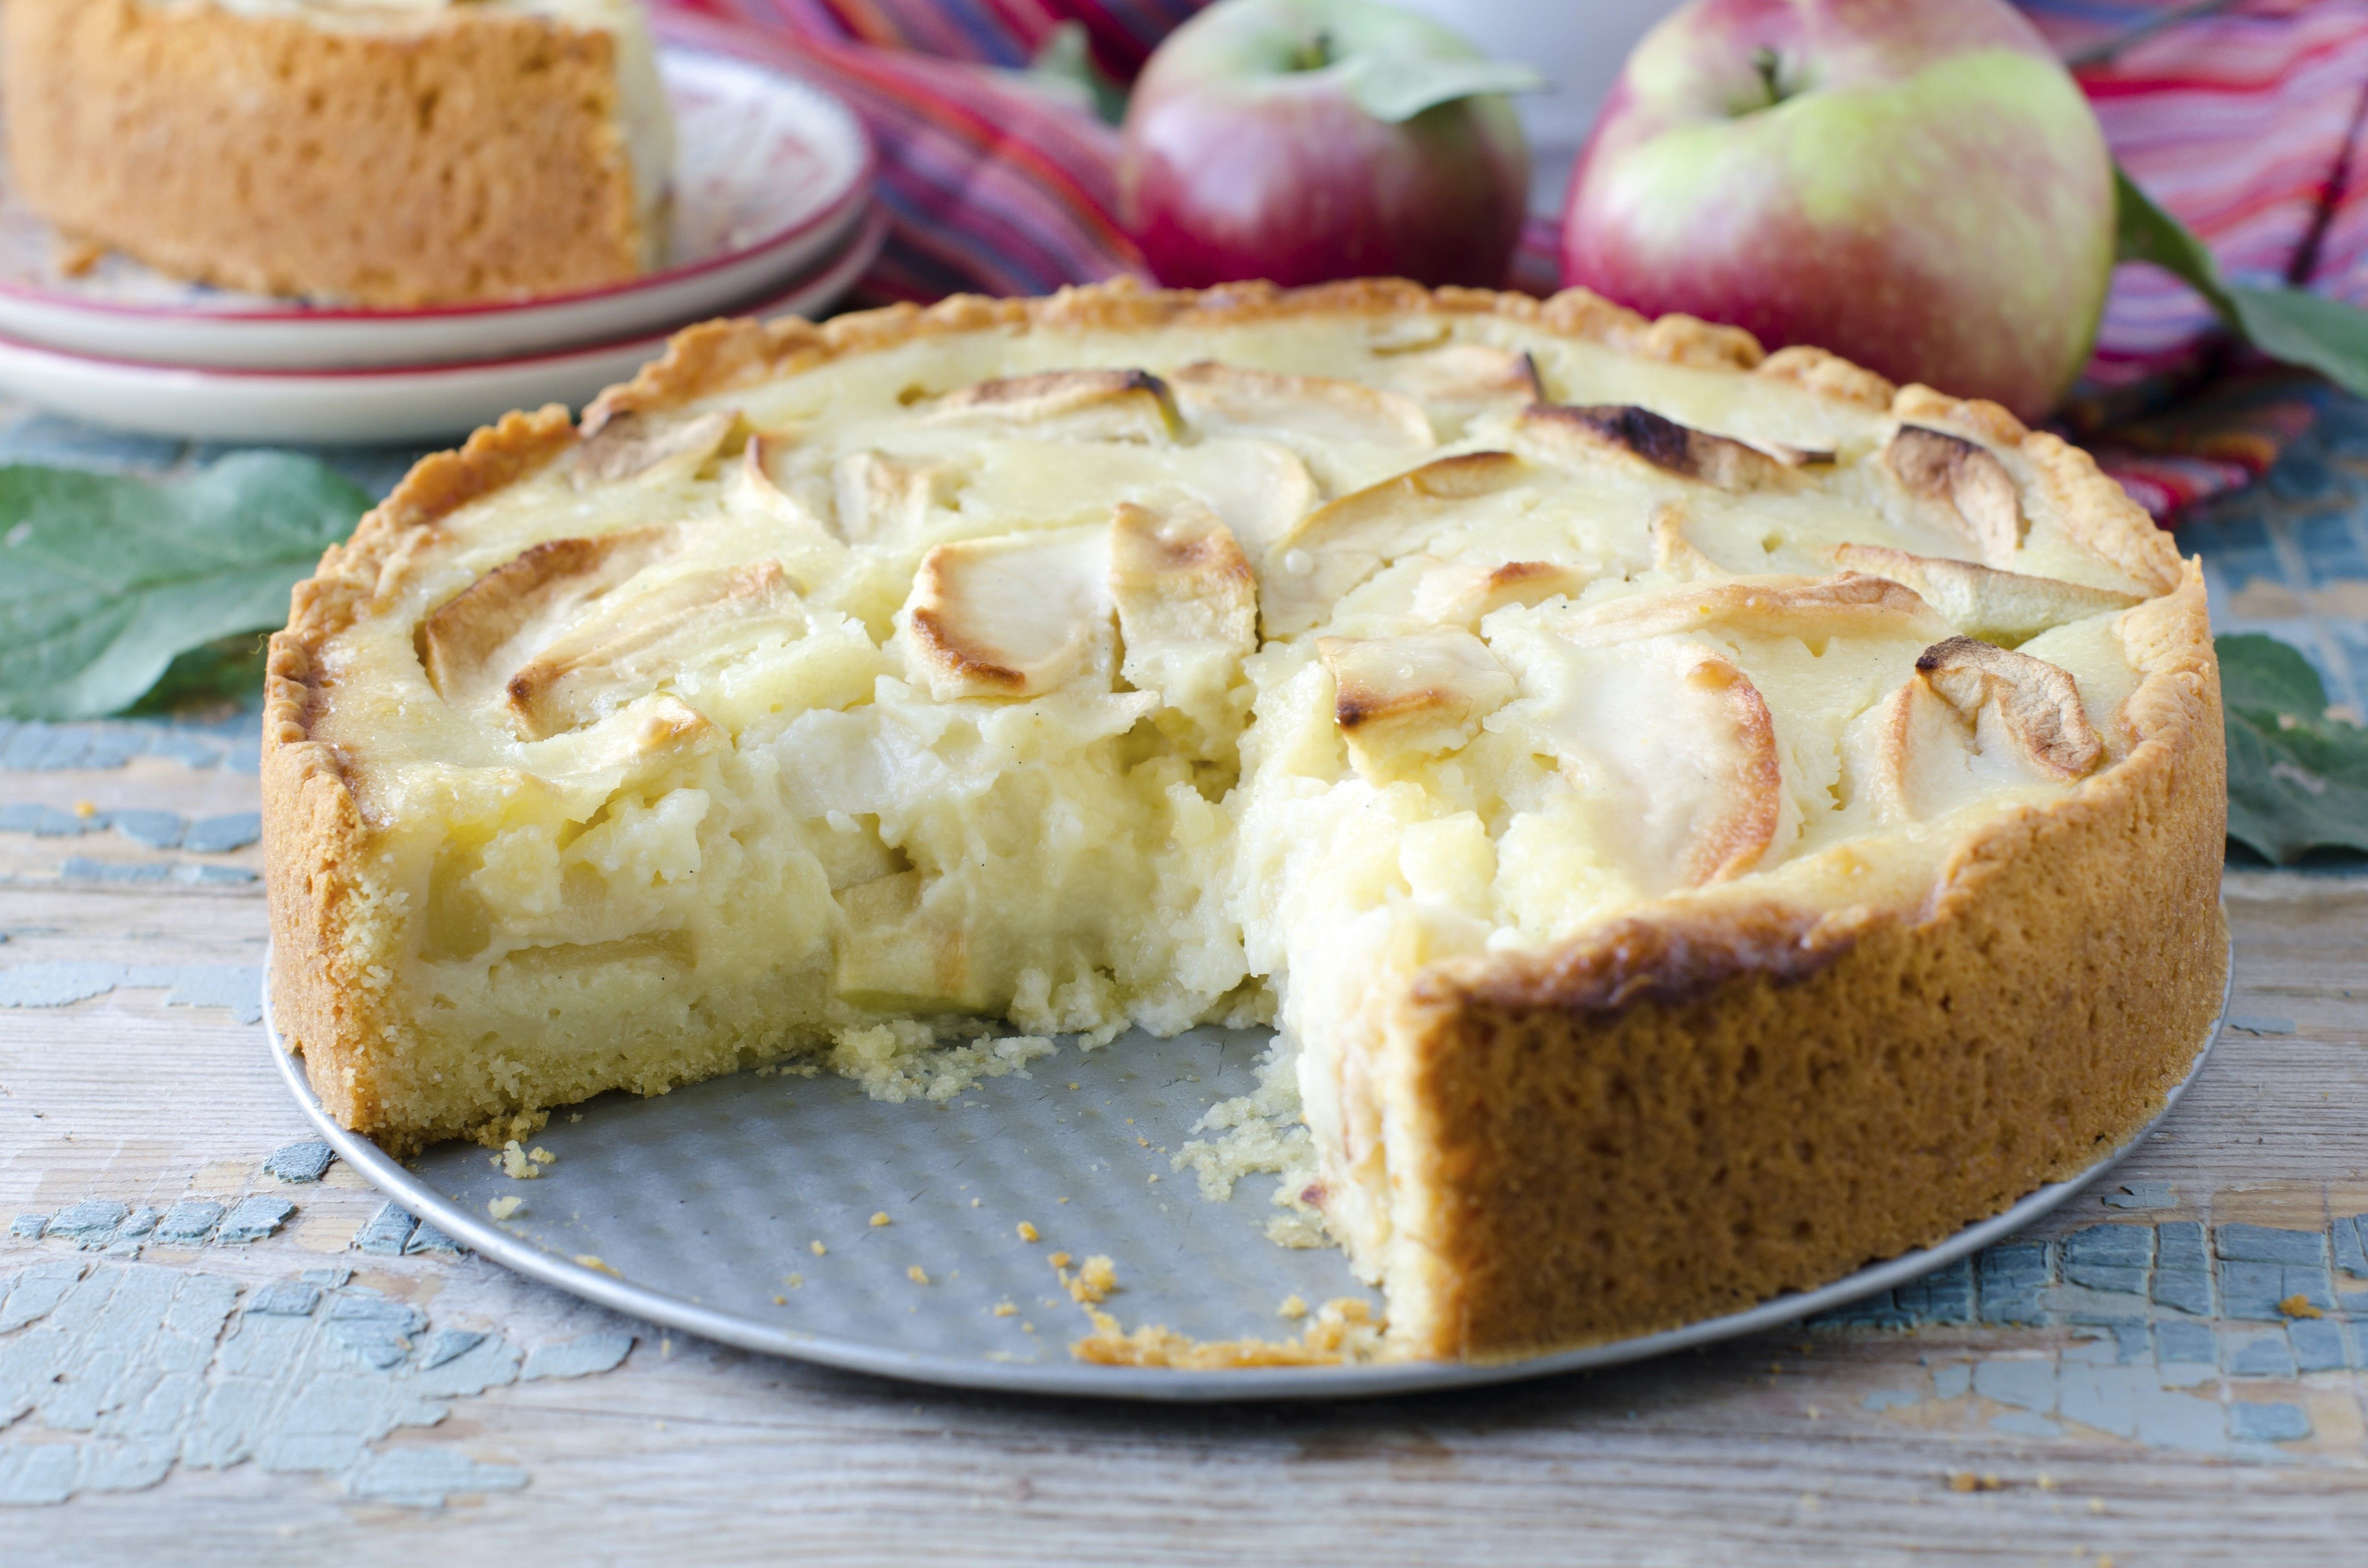
<path id="1" fill-rule="evenodd" d="M 815 315 L 845 294 L 888 232 L 852 244 L 781 294 L 718 315 Z M 104 360 L 0 336 L 0 396 L 149 436 L 256 445 L 393 445 L 459 436 L 514 407 L 578 407 L 658 358 L 668 334 L 464 365 L 391 369 L 197 369 Z"/>

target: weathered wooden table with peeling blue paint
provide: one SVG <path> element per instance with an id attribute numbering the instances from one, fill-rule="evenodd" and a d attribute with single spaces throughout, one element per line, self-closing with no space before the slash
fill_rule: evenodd
<path id="1" fill-rule="evenodd" d="M 2181 538 L 2224 628 L 2359 701 L 2368 412 L 2323 426 Z M 73 441 L 19 424 L 0 457 Z M 9 1568 L 2368 1561 L 2351 869 L 2233 869 L 2238 1026 L 2188 1099 L 1923 1289 L 1591 1376 L 1156 1409 L 822 1371 L 391 1251 L 341 1163 L 303 1180 L 265 1056 L 253 737 L 0 722 Z"/>

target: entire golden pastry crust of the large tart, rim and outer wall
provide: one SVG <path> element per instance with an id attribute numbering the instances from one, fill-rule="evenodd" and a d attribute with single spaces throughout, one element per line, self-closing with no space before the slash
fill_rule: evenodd
<path id="1" fill-rule="evenodd" d="M 2126 753 L 2053 805 L 1968 831 L 1928 881 L 1854 891 L 1847 855 L 1828 855 L 1816 907 L 1719 883 L 1551 952 L 1418 971 L 1381 1009 L 1381 1059 L 1395 1066 L 1373 1090 L 1397 1203 L 1392 1355 L 1518 1357 L 1809 1289 L 2093 1163 L 2162 1106 L 2212 1026 L 2228 950 L 2202 578 L 2086 455 L 1994 405 L 1892 388 L 1814 351 L 1762 355 L 1740 332 L 1643 322 L 1582 291 L 1539 303 L 1388 282 L 1198 296 L 1101 287 L 822 327 L 694 327 L 604 396 L 585 433 L 928 334 L 1291 313 L 1501 313 L 1973 429 L 2020 448 L 2065 526 L 2157 595 L 2122 623 L 2136 675 L 2119 718 Z M 438 519 L 575 441 L 549 407 L 424 460 L 298 585 L 289 628 L 272 637 L 263 789 L 277 1018 L 322 1104 L 395 1149 L 535 1106 L 490 1097 L 424 1120 L 403 1104 L 391 1059 L 403 1021 L 386 1014 L 386 976 L 374 973 L 386 912 L 353 874 L 369 829 L 346 758 L 310 732 L 317 661 Z M 744 1045 L 718 1037 L 673 1071 L 727 1071 Z M 587 1080 L 545 1104 L 620 1082 L 665 1087 Z"/>

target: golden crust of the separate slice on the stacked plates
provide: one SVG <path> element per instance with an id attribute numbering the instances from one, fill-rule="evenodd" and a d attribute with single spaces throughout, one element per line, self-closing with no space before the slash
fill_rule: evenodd
<path id="1" fill-rule="evenodd" d="M 618 40 L 476 5 L 327 28 L 149 0 L 0 12 L 9 175 L 225 289 L 429 306 L 635 277 Z"/>

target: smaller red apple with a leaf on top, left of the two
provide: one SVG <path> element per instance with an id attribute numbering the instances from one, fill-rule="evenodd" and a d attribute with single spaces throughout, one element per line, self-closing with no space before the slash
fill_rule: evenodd
<path id="1" fill-rule="evenodd" d="M 1120 206 L 1160 282 L 1504 282 L 1525 66 L 1366 0 L 1220 0 L 1144 66 Z"/>

